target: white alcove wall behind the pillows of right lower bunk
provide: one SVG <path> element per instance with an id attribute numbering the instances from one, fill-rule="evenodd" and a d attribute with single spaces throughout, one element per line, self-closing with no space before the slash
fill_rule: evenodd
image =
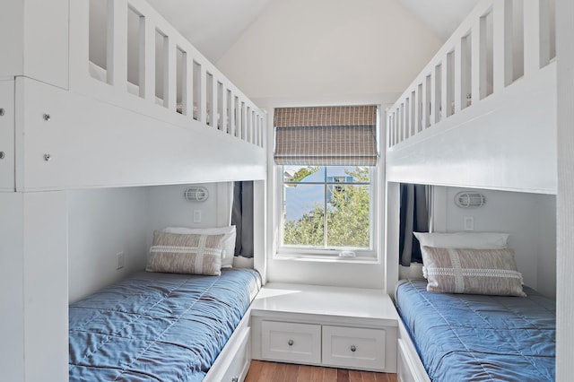
<path id="1" fill-rule="evenodd" d="M 508 232 L 518 270 L 526 285 L 556 296 L 556 196 L 480 190 L 486 204 L 459 208 L 454 197 L 469 188 L 435 187 L 435 231 L 464 230 L 465 217 L 475 231 Z"/>

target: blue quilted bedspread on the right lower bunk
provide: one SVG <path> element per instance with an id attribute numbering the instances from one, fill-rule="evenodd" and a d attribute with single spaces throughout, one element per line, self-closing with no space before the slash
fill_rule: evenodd
<path id="1" fill-rule="evenodd" d="M 527 297 L 426 291 L 397 285 L 396 304 L 432 381 L 553 381 L 556 306 Z"/>

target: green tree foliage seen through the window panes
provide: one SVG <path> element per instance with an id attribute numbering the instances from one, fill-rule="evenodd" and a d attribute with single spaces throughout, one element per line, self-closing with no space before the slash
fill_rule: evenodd
<path id="1" fill-rule="evenodd" d="M 369 168 L 345 171 L 355 182 L 369 182 Z M 329 185 L 327 211 L 316 205 L 296 221 L 286 221 L 283 243 L 295 246 L 324 247 L 325 221 L 327 247 L 369 247 L 370 195 L 368 185 Z M 326 219 L 325 219 L 326 217 Z"/>

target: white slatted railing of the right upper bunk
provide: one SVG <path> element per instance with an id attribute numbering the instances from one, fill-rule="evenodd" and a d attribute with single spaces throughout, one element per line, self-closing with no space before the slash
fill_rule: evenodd
<path id="1" fill-rule="evenodd" d="M 387 109 L 387 149 L 549 65 L 553 0 L 483 0 Z"/>

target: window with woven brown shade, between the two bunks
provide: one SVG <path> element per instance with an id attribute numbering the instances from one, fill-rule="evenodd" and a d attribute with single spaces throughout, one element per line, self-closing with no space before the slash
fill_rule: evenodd
<path id="1" fill-rule="evenodd" d="M 374 257 L 376 106 L 275 109 L 278 253 Z"/>

